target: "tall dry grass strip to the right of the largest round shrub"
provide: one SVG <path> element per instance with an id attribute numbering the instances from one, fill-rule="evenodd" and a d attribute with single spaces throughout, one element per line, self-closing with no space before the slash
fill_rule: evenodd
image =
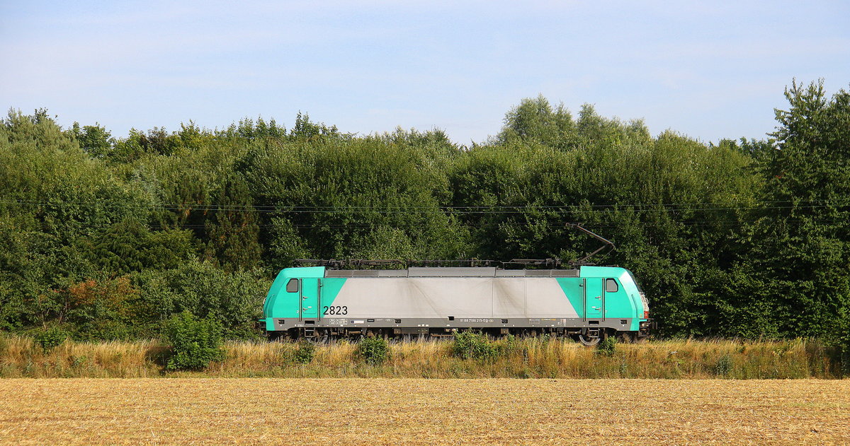
<path id="1" fill-rule="evenodd" d="M 836 378 L 841 371 L 829 348 L 791 341 L 661 341 L 618 344 L 598 354 L 570 340 L 496 341 L 495 360 L 461 360 L 451 341 L 391 343 L 385 365 L 365 365 L 356 343 L 319 345 L 309 365 L 294 365 L 293 343 L 228 343 L 227 359 L 207 376 L 424 377 L 424 378 Z M 184 374 L 191 376 L 191 374 Z"/>

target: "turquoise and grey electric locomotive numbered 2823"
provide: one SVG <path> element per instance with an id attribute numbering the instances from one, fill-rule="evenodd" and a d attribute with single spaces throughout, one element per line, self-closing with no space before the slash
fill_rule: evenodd
<path id="1" fill-rule="evenodd" d="M 280 271 L 263 304 L 269 337 L 572 336 L 592 345 L 609 336 L 649 335 L 649 305 L 629 270 L 410 267 Z"/>

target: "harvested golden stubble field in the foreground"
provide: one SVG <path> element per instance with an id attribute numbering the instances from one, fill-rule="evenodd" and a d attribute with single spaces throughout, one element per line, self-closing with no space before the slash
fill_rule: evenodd
<path id="1" fill-rule="evenodd" d="M 850 381 L 4 379 L 0 442 L 850 443 Z"/>

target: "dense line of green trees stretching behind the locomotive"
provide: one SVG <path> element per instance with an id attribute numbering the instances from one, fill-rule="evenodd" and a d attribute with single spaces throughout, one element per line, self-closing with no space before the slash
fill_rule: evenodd
<path id="1" fill-rule="evenodd" d="M 850 94 L 792 83 L 761 140 L 657 136 L 524 99 L 469 146 L 298 114 L 209 130 L 0 122 L 0 331 L 231 338 L 295 259 L 578 259 L 632 270 L 659 334 L 836 337 L 850 326 Z"/>

